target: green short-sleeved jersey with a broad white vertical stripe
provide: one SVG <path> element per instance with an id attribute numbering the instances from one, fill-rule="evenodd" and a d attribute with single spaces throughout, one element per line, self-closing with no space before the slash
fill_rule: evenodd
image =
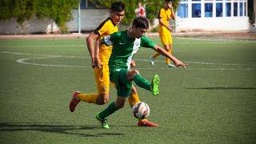
<path id="1" fill-rule="evenodd" d="M 153 49 L 155 44 L 146 36 L 141 38 L 130 38 L 127 30 L 111 34 L 103 39 L 108 46 L 112 45 L 110 56 L 110 70 L 130 69 L 130 62 L 137 53 L 138 48 L 147 47 Z"/>

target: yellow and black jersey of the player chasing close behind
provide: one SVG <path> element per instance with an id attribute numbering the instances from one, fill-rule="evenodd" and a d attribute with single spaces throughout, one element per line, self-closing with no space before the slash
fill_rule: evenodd
<path id="1" fill-rule="evenodd" d="M 94 33 L 98 34 L 100 38 L 104 38 L 107 35 L 118 32 L 118 26 L 114 24 L 111 18 L 106 18 L 95 30 Z M 101 45 L 99 49 L 99 58 L 102 64 L 108 64 L 110 54 L 112 52 L 112 46 Z"/>

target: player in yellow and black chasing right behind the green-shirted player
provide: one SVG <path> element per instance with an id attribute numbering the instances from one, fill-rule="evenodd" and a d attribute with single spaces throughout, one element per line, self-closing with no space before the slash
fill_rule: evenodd
<path id="1" fill-rule="evenodd" d="M 97 29 L 95 29 L 86 38 L 87 48 L 90 52 L 91 61 L 94 63 L 94 58 L 98 58 L 98 65 L 100 69 L 96 69 L 98 66 L 93 66 L 95 81 L 98 88 L 98 93 L 82 94 L 79 91 L 74 92 L 73 98 L 70 101 L 70 111 L 74 112 L 75 107 L 80 101 L 94 103 L 97 105 L 104 105 L 109 101 L 110 93 L 110 72 L 109 72 L 109 59 L 112 52 L 112 46 L 101 45 L 99 51 L 92 51 L 94 48 L 95 41 L 100 38 L 104 38 L 107 35 L 118 32 L 118 24 L 122 22 L 125 15 L 125 5 L 122 2 L 114 2 L 110 9 L 110 18 L 106 18 Z M 140 102 L 136 88 L 133 86 L 131 90 L 130 97 L 128 98 L 130 106 L 134 106 L 136 103 Z M 138 120 L 138 126 L 158 126 L 158 124 L 150 122 L 147 119 Z"/>

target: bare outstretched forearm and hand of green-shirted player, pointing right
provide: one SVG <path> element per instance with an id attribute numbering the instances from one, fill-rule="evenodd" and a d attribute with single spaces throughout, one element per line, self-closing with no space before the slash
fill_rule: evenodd
<path id="1" fill-rule="evenodd" d="M 175 58 L 174 55 L 168 53 L 166 50 L 164 50 L 160 46 L 155 45 L 154 50 L 156 50 L 159 54 L 162 54 L 166 58 L 170 58 L 174 62 L 175 66 L 182 66 L 184 68 L 186 68 L 186 66 L 188 66 L 188 64 L 185 64 L 182 61 L 178 60 L 178 58 Z"/>

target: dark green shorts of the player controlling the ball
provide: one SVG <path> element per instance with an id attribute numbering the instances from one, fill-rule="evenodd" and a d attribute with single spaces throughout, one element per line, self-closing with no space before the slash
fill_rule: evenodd
<path id="1" fill-rule="evenodd" d="M 128 70 L 110 70 L 110 81 L 114 82 L 118 96 L 127 98 L 130 96 L 132 83 L 127 78 Z"/>

